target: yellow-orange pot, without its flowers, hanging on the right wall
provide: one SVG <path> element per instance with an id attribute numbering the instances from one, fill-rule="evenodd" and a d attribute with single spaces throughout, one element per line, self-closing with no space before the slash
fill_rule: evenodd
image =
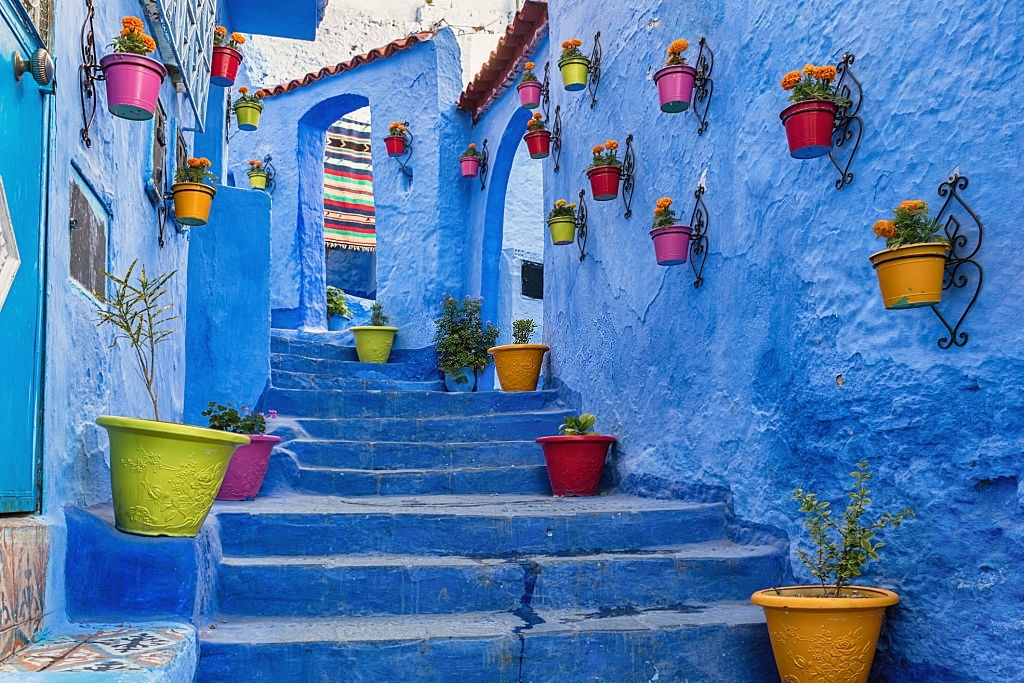
<path id="1" fill-rule="evenodd" d="M 918 308 L 942 300 L 942 274 L 949 245 L 929 242 L 883 249 L 868 258 L 879 276 L 886 308 Z"/>

